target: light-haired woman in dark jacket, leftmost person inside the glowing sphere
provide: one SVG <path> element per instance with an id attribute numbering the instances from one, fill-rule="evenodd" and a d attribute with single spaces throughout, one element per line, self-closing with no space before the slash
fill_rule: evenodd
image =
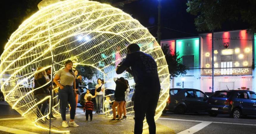
<path id="1" fill-rule="evenodd" d="M 34 95 L 36 98 L 36 102 L 38 103 L 39 101 L 44 100 L 47 96 L 50 95 L 48 88 L 51 86 L 51 82 L 48 82 L 48 84 L 46 84 L 46 72 L 43 67 L 37 68 L 34 83 Z M 46 110 L 47 101 L 48 99 L 45 99 L 43 102 L 37 105 L 37 118 L 39 119 L 39 122 L 44 122 L 41 118 L 43 117 L 43 113 Z"/>

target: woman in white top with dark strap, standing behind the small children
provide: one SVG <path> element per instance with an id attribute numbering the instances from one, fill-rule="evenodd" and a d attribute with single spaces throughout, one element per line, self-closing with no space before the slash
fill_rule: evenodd
<path id="1" fill-rule="evenodd" d="M 95 86 L 95 100 L 96 100 L 96 114 L 100 114 L 100 108 L 102 105 L 102 99 L 103 99 L 103 90 L 104 90 L 104 84 L 102 84 L 102 80 L 97 80 L 98 84 Z"/>

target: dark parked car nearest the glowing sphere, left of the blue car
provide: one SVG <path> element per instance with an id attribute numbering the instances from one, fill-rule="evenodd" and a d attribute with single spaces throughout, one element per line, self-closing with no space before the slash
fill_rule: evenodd
<path id="1" fill-rule="evenodd" d="M 175 114 L 185 112 L 205 112 L 207 110 L 207 95 L 197 89 L 173 88 L 169 90 L 169 99 L 166 103 L 166 111 Z"/>

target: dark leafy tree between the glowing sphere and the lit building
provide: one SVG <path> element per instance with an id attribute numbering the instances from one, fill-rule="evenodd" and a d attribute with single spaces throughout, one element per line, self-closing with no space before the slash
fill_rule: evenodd
<path id="1" fill-rule="evenodd" d="M 181 57 L 179 57 L 179 52 L 174 52 L 174 55 L 171 55 L 171 50 L 167 44 L 162 44 L 162 51 L 165 55 L 171 78 L 187 73 L 186 66 L 182 64 Z"/>

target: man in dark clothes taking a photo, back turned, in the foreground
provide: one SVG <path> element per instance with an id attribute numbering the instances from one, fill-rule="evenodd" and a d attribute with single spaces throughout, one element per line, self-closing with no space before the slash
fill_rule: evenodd
<path id="1" fill-rule="evenodd" d="M 130 69 L 131 67 L 131 69 Z M 143 120 L 149 125 L 149 133 L 156 133 L 154 122 L 155 110 L 160 94 L 160 80 L 157 72 L 157 64 L 152 56 L 140 51 L 138 44 L 129 44 L 126 58 L 118 64 L 116 73 L 129 72 L 135 81 L 133 104 L 135 112 L 134 133 L 141 134 Z"/>

